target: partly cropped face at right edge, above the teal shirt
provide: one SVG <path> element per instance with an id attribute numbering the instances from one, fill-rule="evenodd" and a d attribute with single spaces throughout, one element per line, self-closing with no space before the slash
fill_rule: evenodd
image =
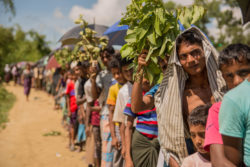
<path id="1" fill-rule="evenodd" d="M 232 60 L 230 64 L 221 66 L 221 72 L 228 89 L 232 89 L 250 77 L 250 65 L 247 61 L 238 62 Z"/>

